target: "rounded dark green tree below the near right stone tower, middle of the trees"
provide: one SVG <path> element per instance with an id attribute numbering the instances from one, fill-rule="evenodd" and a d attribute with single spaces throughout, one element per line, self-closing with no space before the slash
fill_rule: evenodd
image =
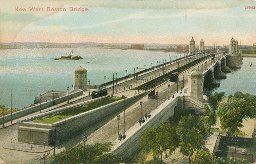
<path id="1" fill-rule="evenodd" d="M 177 134 L 180 136 L 180 150 L 183 154 L 189 155 L 190 163 L 190 157 L 204 146 L 208 138 L 204 118 L 195 115 L 181 117 Z"/>

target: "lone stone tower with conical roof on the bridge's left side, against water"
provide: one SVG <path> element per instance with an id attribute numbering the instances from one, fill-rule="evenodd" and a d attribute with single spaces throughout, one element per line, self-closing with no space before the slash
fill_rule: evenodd
<path id="1" fill-rule="evenodd" d="M 87 70 L 83 67 L 77 68 L 75 71 L 75 90 L 87 90 Z"/>

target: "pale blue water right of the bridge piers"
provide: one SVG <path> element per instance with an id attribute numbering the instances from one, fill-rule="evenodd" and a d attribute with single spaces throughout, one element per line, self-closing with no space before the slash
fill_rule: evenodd
<path id="1" fill-rule="evenodd" d="M 249 62 L 252 62 L 250 67 Z M 244 58 L 242 68 L 227 75 L 227 79 L 220 80 L 220 87 L 212 90 L 214 92 L 226 92 L 226 96 L 237 91 L 256 95 L 256 58 Z"/>

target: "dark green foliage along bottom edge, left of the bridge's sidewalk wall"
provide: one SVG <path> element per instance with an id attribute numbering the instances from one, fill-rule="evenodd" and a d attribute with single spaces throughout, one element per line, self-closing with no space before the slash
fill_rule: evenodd
<path id="1" fill-rule="evenodd" d="M 62 151 L 50 158 L 53 164 L 80 163 L 115 163 L 115 157 L 110 153 L 112 143 L 83 145 Z"/>

